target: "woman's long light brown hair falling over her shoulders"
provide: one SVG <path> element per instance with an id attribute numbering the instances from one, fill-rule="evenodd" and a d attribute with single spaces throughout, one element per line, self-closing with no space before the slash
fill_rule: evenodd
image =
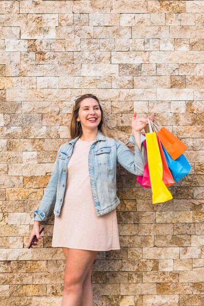
<path id="1" fill-rule="evenodd" d="M 101 121 L 98 125 L 98 129 L 102 132 L 102 134 L 104 136 L 114 138 L 116 141 L 118 141 L 118 139 L 115 137 L 115 135 L 113 135 L 113 134 L 111 134 L 110 132 L 107 131 L 106 123 L 105 123 L 104 116 L 103 116 L 102 106 L 100 105 L 100 102 L 99 102 L 99 99 L 97 98 L 97 96 L 93 95 L 92 93 L 85 93 L 85 94 L 81 95 L 79 98 L 77 98 L 76 101 L 75 101 L 75 104 L 74 104 L 73 109 L 72 109 L 71 121 L 70 121 L 71 139 L 74 139 L 77 136 L 81 137 L 81 135 L 82 135 L 82 126 L 81 126 L 81 123 L 79 122 L 79 127 L 78 127 L 77 118 L 78 118 L 78 114 L 79 114 L 80 103 L 85 98 L 93 98 L 99 103 L 99 108 L 101 109 L 101 112 L 102 112 L 102 119 L 101 119 Z M 120 141 L 119 143 L 124 146 L 122 141 Z"/>

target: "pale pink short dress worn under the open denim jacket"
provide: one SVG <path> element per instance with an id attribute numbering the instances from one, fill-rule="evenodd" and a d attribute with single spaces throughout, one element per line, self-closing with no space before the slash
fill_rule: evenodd
<path id="1" fill-rule="evenodd" d="M 55 217 L 53 247 L 108 251 L 119 250 L 116 209 L 96 216 L 88 170 L 93 141 L 77 140 L 67 165 L 66 188 L 61 213 Z"/>

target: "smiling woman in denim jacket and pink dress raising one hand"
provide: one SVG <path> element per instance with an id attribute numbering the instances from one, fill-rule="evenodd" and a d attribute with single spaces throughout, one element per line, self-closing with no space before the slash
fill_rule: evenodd
<path id="1" fill-rule="evenodd" d="M 153 120 L 153 116 L 149 118 Z M 97 253 L 120 249 L 116 165 L 119 163 L 134 175 L 143 175 L 144 137 L 140 131 L 146 124 L 147 119 L 136 119 L 134 112 L 129 138 L 135 144 L 134 154 L 107 132 L 95 95 L 84 94 L 75 101 L 71 140 L 58 150 L 40 207 L 34 212 L 29 239 L 29 244 L 35 235 L 41 239 L 40 223 L 54 209 L 52 246 L 62 247 L 66 258 L 61 306 L 93 305 L 91 275 Z"/>

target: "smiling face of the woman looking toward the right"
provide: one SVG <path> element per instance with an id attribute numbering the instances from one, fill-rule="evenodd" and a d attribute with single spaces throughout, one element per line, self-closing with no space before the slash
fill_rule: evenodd
<path id="1" fill-rule="evenodd" d="M 85 98 L 80 103 L 78 121 L 81 122 L 83 129 L 98 129 L 102 118 L 99 103 L 93 98 Z"/>

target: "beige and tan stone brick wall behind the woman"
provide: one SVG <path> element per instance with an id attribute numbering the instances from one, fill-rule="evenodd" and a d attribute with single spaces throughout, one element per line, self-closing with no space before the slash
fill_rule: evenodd
<path id="1" fill-rule="evenodd" d="M 203 84 L 203 0 L 0 2 L 0 306 L 61 304 L 53 214 L 27 246 L 74 97 L 86 92 L 124 142 L 133 111 L 154 112 L 192 166 L 157 205 L 118 167 L 121 250 L 94 262 L 95 305 L 204 305 Z"/>

